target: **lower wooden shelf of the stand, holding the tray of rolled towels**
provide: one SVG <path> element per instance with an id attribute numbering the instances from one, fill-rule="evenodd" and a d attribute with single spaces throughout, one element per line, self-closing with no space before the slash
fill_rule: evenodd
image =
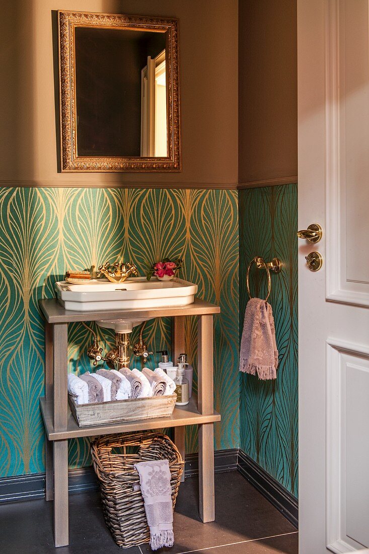
<path id="1" fill-rule="evenodd" d="M 214 423 L 221 420 L 220 414 L 200 414 L 197 409 L 197 397 L 192 395 L 187 406 L 176 406 L 170 417 L 142 419 L 126 423 L 112 423 L 105 425 L 90 425 L 78 427 L 76 420 L 68 407 L 68 426 L 64 431 L 55 431 L 53 423 L 53 403 L 40 398 L 40 407 L 44 419 L 45 429 L 49 440 L 63 440 L 74 437 L 94 437 L 110 433 L 126 433 L 147 429 L 161 429 L 163 427 L 178 427 L 180 425 L 198 425 L 199 423 Z"/>

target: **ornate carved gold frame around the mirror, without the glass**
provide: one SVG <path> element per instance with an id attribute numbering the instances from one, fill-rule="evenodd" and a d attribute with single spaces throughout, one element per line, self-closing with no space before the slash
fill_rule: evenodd
<path id="1" fill-rule="evenodd" d="M 79 156 L 75 28 L 165 33 L 167 157 Z M 61 172 L 181 171 L 178 20 L 95 12 L 58 12 Z"/>

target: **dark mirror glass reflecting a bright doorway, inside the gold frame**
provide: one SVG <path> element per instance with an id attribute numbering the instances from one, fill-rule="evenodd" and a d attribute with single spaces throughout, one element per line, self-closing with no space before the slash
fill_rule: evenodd
<path id="1" fill-rule="evenodd" d="M 77 156 L 166 157 L 166 32 L 75 27 Z"/>

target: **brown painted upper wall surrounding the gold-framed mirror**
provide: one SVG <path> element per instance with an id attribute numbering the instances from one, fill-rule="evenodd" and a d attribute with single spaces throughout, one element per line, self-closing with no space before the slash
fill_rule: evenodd
<path id="1" fill-rule="evenodd" d="M 59 8 L 180 19 L 181 173 L 57 173 L 52 10 Z M 1 9 L 0 185 L 235 187 L 237 0 L 13 0 Z"/>

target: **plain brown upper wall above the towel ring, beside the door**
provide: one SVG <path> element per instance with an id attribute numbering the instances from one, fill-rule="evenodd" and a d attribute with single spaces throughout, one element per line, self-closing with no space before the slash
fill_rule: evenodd
<path id="1" fill-rule="evenodd" d="M 239 183 L 295 182 L 296 49 L 296 0 L 240 0 Z"/>

